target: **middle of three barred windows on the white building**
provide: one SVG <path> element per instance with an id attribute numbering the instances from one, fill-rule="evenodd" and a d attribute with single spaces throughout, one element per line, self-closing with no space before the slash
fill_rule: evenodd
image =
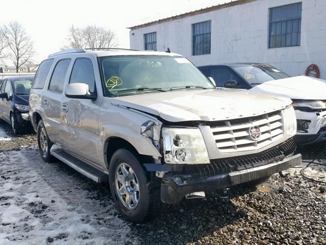
<path id="1" fill-rule="evenodd" d="M 210 54 L 211 21 L 193 24 L 193 55 Z"/>

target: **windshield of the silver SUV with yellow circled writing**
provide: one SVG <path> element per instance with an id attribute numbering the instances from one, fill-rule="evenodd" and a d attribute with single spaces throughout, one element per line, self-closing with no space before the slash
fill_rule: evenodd
<path id="1" fill-rule="evenodd" d="M 108 56 L 100 58 L 108 96 L 215 87 L 180 56 Z"/>

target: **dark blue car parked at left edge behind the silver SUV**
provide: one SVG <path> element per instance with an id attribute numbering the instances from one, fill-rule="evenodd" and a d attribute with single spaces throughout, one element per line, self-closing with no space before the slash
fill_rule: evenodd
<path id="1" fill-rule="evenodd" d="M 29 122 L 29 96 L 34 76 L 6 78 L 0 88 L 0 119 L 17 133 Z M 29 124 L 28 124 L 29 125 Z"/>

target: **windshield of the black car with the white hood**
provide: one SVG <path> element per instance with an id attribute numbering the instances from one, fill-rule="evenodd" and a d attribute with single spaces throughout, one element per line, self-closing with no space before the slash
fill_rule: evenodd
<path id="1" fill-rule="evenodd" d="M 253 87 L 267 81 L 289 78 L 271 65 L 234 66 L 233 69 Z"/>

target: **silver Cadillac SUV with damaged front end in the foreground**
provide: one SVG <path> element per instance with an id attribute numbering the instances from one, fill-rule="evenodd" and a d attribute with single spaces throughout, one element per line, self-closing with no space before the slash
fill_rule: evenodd
<path id="1" fill-rule="evenodd" d="M 215 89 L 172 53 L 50 55 L 34 78 L 30 117 L 42 159 L 108 182 L 131 222 L 152 217 L 159 200 L 255 185 L 301 162 L 291 100 Z"/>

